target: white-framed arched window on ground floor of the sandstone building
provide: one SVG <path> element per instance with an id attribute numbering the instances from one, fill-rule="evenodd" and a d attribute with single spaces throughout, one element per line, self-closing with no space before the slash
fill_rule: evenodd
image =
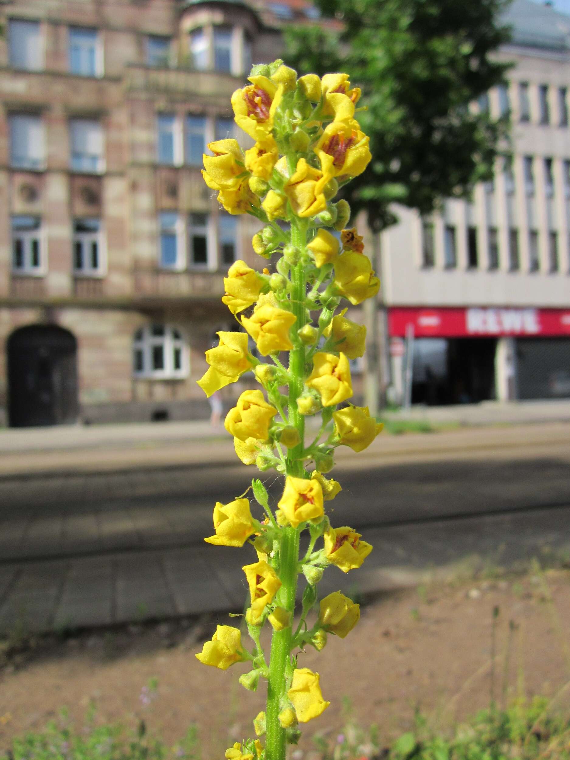
<path id="1" fill-rule="evenodd" d="M 168 380 L 185 378 L 189 371 L 188 346 L 178 328 L 154 323 L 135 332 L 135 377 Z"/>

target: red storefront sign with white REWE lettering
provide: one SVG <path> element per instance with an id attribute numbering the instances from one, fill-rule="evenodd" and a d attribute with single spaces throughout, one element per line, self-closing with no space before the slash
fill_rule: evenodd
<path id="1" fill-rule="evenodd" d="M 388 330 L 404 337 L 413 325 L 415 337 L 484 337 L 566 335 L 570 309 L 388 309 Z"/>

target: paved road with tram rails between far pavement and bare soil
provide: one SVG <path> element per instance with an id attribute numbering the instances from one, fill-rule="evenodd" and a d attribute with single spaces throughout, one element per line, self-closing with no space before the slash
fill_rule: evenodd
<path id="1" fill-rule="evenodd" d="M 0 628 L 239 609 L 245 555 L 203 537 L 214 501 L 243 492 L 257 470 L 227 445 L 216 463 L 204 451 L 194 446 L 184 467 L 157 457 L 159 467 L 121 469 L 117 454 L 103 473 L 2 477 Z M 362 528 L 375 552 L 358 578 L 328 573 L 335 587 L 375 591 L 467 558 L 511 565 L 570 546 L 568 424 L 385 438 L 338 459 L 344 492 L 331 519 Z"/>

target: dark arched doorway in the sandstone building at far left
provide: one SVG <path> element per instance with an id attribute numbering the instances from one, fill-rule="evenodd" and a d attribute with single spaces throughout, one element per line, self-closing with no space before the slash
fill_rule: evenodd
<path id="1" fill-rule="evenodd" d="M 11 427 L 74 423 L 78 417 L 77 340 L 55 325 L 30 325 L 8 338 Z"/>

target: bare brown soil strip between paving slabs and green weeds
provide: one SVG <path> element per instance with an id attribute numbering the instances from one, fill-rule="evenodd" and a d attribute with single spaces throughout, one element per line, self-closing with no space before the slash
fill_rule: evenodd
<path id="1" fill-rule="evenodd" d="M 359 722 L 378 724 L 388 742 L 410 728 L 416 708 L 445 729 L 488 706 L 492 683 L 499 704 L 521 692 L 556 694 L 570 679 L 568 581 L 570 572 L 556 570 L 369 600 L 348 638 L 329 636 L 324 651 L 299 657 L 302 667 L 321 673 L 331 701 L 306 726 L 300 747 L 311 748 L 315 731 L 340 730 L 344 697 Z M 13 655 L 0 672 L 0 749 L 13 736 L 43 728 L 63 706 L 81 726 L 93 701 L 98 722 L 144 718 L 168 743 L 195 723 L 204 757 L 223 757 L 231 742 L 252 735 L 264 689 L 252 694 L 239 686 L 241 665 L 223 673 L 195 659 L 216 622 L 84 632 Z M 219 622 L 231 625 L 232 619 Z M 154 678 L 157 691 L 146 704 L 143 687 Z"/>

